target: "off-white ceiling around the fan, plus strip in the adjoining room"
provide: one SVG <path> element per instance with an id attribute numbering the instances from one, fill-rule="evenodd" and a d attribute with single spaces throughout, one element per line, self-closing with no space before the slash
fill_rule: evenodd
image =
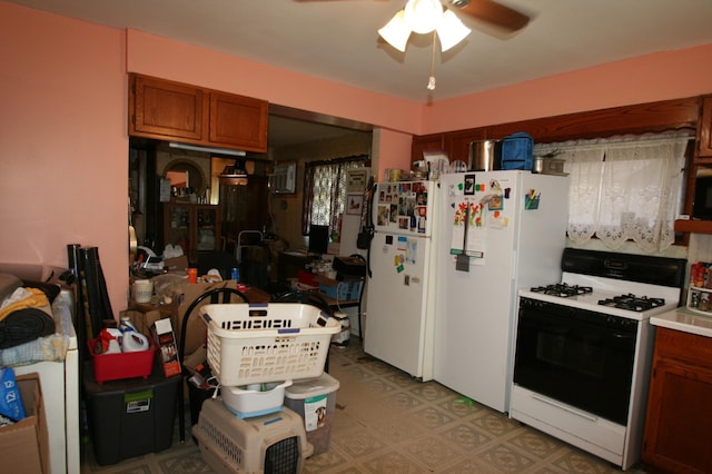
<path id="1" fill-rule="evenodd" d="M 501 0 L 528 14 L 528 26 L 505 34 L 461 13 L 473 31 L 449 51 L 435 51 L 436 88 L 429 91 L 433 37 L 413 34 L 399 52 L 377 33 L 405 0 L 9 1 L 421 103 L 712 43 L 710 0 Z M 330 126 L 308 130 L 319 138 L 344 132 Z M 270 127 L 270 141 L 278 132 Z"/>

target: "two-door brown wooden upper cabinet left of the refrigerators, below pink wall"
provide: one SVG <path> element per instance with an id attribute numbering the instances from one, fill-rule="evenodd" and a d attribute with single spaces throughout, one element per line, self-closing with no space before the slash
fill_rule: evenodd
<path id="1" fill-rule="evenodd" d="M 267 101 L 129 75 L 129 136 L 267 151 Z"/>

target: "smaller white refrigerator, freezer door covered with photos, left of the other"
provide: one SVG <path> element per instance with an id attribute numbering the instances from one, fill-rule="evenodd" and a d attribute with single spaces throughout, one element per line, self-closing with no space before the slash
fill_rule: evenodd
<path id="1" fill-rule="evenodd" d="M 433 181 L 379 182 L 364 350 L 424 382 L 433 378 Z"/>

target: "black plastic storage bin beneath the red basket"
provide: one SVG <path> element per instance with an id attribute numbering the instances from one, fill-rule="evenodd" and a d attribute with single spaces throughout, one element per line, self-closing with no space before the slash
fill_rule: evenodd
<path id="1" fill-rule="evenodd" d="M 157 366 L 150 377 L 106 382 L 93 379 L 91 363 L 83 371 L 85 403 L 97 463 L 170 447 L 180 375 L 166 378 Z"/>

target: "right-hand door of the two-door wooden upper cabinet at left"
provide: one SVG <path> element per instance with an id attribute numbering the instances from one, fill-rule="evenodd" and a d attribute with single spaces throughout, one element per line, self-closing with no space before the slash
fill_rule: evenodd
<path id="1" fill-rule="evenodd" d="M 248 151 L 267 151 L 267 102 L 210 92 L 210 141 Z"/>

